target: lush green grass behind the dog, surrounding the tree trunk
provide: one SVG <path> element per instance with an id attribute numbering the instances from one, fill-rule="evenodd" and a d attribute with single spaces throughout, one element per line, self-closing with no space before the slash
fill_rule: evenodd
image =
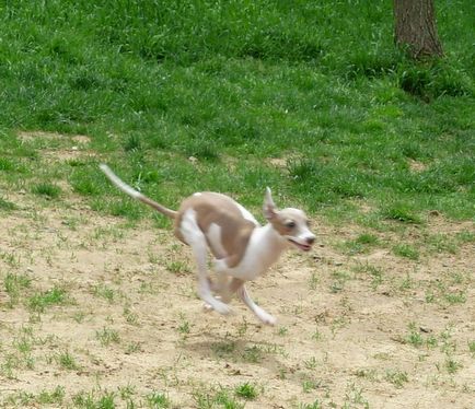
<path id="1" fill-rule="evenodd" d="M 143 217 L 99 159 L 45 166 L 42 151 L 69 149 L 67 138 L 15 136 L 85 133 L 124 179 L 172 207 L 212 189 L 257 210 L 270 185 L 279 204 L 340 220 L 356 201 L 406 224 L 432 210 L 471 219 L 473 19 L 456 12 L 471 3 L 437 7 L 447 57 L 415 63 L 394 48 L 384 1 L 3 4 L 0 180 L 21 175 L 56 199 L 63 179 L 96 211 Z"/>

